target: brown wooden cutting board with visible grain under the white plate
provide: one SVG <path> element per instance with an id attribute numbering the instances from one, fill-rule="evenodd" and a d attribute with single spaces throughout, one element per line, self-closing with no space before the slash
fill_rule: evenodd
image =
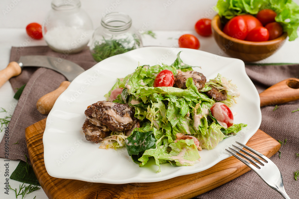
<path id="1" fill-rule="evenodd" d="M 250 170 L 237 158 L 230 157 L 205 171 L 154 183 L 104 184 L 53 178 L 47 173 L 44 163 L 42 136 L 45 124 L 46 119 L 43 119 L 27 127 L 26 141 L 35 175 L 50 199 L 192 198 Z M 280 149 L 280 144 L 260 129 L 247 145 L 267 157 Z"/>

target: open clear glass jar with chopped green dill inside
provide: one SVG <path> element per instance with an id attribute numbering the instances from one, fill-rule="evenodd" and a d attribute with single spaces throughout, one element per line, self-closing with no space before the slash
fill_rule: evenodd
<path id="1" fill-rule="evenodd" d="M 132 27 L 131 18 L 125 13 L 113 12 L 105 15 L 101 26 L 94 31 L 90 51 L 99 62 L 139 47 L 142 47 L 141 37 Z"/>

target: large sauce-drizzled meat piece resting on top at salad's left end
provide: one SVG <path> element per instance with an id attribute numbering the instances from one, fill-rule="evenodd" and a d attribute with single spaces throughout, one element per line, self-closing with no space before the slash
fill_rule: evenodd
<path id="1" fill-rule="evenodd" d="M 98 101 L 85 110 L 85 115 L 97 126 L 107 126 L 111 131 L 131 129 L 137 119 L 135 111 L 128 104 L 119 104 L 108 101 Z"/>

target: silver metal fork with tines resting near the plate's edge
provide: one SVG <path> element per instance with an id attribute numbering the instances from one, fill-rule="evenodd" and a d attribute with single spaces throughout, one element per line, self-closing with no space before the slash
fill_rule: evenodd
<path id="1" fill-rule="evenodd" d="M 252 155 L 251 153 L 245 151 L 244 149 L 242 149 L 242 147 L 240 148 L 240 147 L 235 146 L 235 145 L 233 145 L 233 146 L 237 150 L 232 149 L 231 147 L 228 147 L 229 149 L 225 149 L 225 150 L 227 152 L 229 152 L 231 155 L 233 155 L 234 157 L 236 157 L 237 159 L 239 159 L 240 161 L 242 161 L 249 168 L 254 170 L 254 172 L 256 172 L 257 175 L 259 175 L 260 178 L 262 178 L 263 181 L 268 186 L 270 186 L 275 191 L 279 192 L 283 196 L 283 198 L 290 199 L 290 197 L 286 194 L 286 190 L 283 187 L 282 175 L 281 175 L 279 169 L 277 168 L 277 166 L 269 158 L 267 158 L 265 155 L 261 154 L 260 152 L 257 152 L 256 150 L 251 149 L 250 147 L 248 147 L 244 144 L 241 144 L 237 141 L 236 141 L 236 143 L 239 144 L 240 146 L 244 147 L 245 149 L 249 150 L 250 152 L 254 153 L 259 158 Z M 248 156 L 244 155 L 243 153 L 240 153 L 239 151 L 247 154 L 252 159 L 249 158 Z M 246 160 L 241 158 L 237 154 L 239 154 L 240 156 L 242 156 Z"/>

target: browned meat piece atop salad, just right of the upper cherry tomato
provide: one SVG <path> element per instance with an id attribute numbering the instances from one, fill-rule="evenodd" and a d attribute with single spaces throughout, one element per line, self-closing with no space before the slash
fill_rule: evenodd
<path id="1" fill-rule="evenodd" d="M 186 89 L 186 79 L 189 77 L 193 78 L 193 82 L 198 90 L 205 87 L 205 83 L 207 81 L 205 75 L 194 70 L 187 72 L 179 71 L 178 74 L 174 77 L 174 86 L 181 89 Z"/>

